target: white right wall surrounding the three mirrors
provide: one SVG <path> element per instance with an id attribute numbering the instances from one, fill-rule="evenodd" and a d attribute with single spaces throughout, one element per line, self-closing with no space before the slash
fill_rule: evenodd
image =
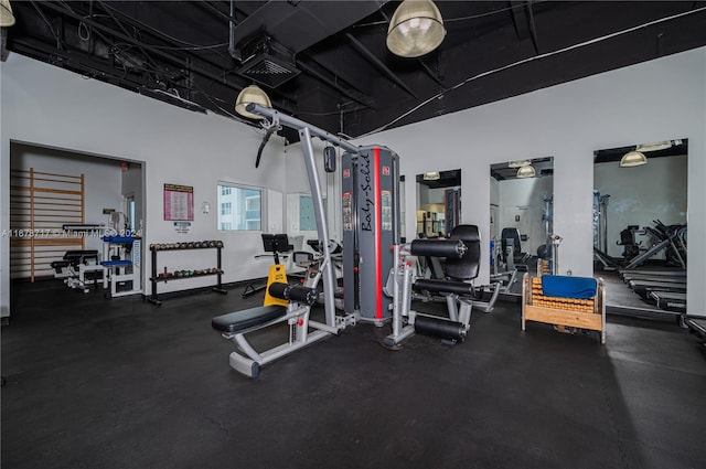
<path id="1" fill-rule="evenodd" d="M 472 85 L 468 85 L 472 86 Z M 447 96 L 452 99 L 452 95 Z M 440 116 L 361 139 L 394 149 L 408 180 L 461 168 L 462 220 L 489 239 L 490 164 L 554 156 L 554 232 L 561 273 L 592 275 L 593 151 L 688 138 L 688 230 L 706 237 L 706 47 Z M 459 157 L 463 154 L 464 157 Z M 415 198 L 407 195 L 406 212 Z M 407 233 L 414 233 L 407 218 Z M 483 243 L 483 257 L 489 246 Z M 706 316 L 706 245 L 692 243 L 688 313 Z M 488 281 L 483 265 L 480 280 Z"/>

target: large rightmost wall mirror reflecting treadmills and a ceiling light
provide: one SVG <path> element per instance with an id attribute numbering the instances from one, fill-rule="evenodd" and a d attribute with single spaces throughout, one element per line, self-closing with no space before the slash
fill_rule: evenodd
<path id="1" fill-rule="evenodd" d="M 686 310 L 688 141 L 593 152 L 593 273 L 617 308 Z"/>

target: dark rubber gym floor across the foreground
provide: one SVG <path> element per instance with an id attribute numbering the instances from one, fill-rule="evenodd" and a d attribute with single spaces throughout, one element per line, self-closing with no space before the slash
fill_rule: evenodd
<path id="1" fill-rule="evenodd" d="M 393 352 L 386 328 L 359 324 L 252 381 L 211 328 L 260 301 L 240 291 L 157 308 L 14 285 L 2 468 L 705 467 L 706 353 L 674 321 L 609 317 L 600 345 L 523 333 L 507 302 L 452 348 L 417 335 Z"/>

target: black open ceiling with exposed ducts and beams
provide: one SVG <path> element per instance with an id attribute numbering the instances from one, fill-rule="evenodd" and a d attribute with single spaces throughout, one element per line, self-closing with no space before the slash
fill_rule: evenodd
<path id="1" fill-rule="evenodd" d="M 255 79 L 351 137 L 706 44 L 706 1 L 436 1 L 447 35 L 418 58 L 385 46 L 397 1 L 11 4 L 11 52 L 222 115 Z"/>

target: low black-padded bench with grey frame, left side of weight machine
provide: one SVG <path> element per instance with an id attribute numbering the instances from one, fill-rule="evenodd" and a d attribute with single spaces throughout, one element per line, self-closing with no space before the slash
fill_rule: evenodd
<path id="1" fill-rule="evenodd" d="M 335 328 L 309 320 L 311 306 L 319 299 L 317 289 L 272 283 L 268 292 L 275 298 L 289 302 L 287 306 L 260 306 L 228 312 L 211 320 L 213 329 L 221 332 L 223 338 L 232 340 L 238 349 L 231 353 L 231 366 L 253 379 L 259 375 L 260 366 L 338 333 Z M 287 341 L 281 345 L 258 352 L 245 338 L 245 334 L 249 332 L 281 322 L 289 324 Z M 314 330 L 309 331 L 310 328 Z"/>

